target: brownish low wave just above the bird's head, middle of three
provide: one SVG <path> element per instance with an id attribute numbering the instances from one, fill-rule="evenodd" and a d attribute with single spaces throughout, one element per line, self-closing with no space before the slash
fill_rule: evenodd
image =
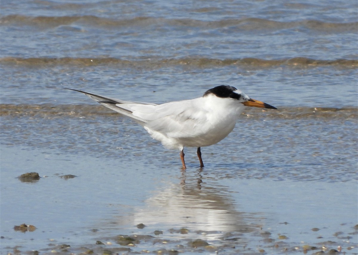
<path id="1" fill-rule="evenodd" d="M 29 66 L 29 67 L 54 67 L 54 66 L 110 66 L 119 68 L 147 68 L 156 69 L 168 66 L 190 66 L 194 68 L 211 68 L 236 65 L 238 67 L 271 68 L 277 66 L 292 66 L 310 68 L 316 66 L 337 66 L 340 68 L 357 68 L 356 59 L 311 59 L 296 57 L 288 59 L 260 59 L 260 58 L 237 58 L 237 59 L 214 59 L 214 58 L 169 58 L 169 59 L 139 59 L 125 60 L 119 58 L 0 58 L 0 64 Z"/>

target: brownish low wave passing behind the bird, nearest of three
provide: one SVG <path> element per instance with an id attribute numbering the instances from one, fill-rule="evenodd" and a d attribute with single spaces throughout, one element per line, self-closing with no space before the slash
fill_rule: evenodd
<path id="1" fill-rule="evenodd" d="M 358 107 L 279 107 L 278 110 L 261 110 L 264 114 L 257 114 L 260 109 L 247 108 L 243 117 L 247 118 L 272 118 L 272 119 L 358 119 Z M 64 118 L 64 117 L 96 117 L 96 116 L 121 116 L 101 105 L 28 105 L 28 104 L 0 104 L 0 116 L 33 118 Z"/>

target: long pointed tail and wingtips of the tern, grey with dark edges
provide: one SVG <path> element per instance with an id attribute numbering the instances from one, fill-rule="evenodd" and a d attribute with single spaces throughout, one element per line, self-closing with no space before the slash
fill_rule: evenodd
<path id="1" fill-rule="evenodd" d="M 109 108 L 113 111 L 119 112 L 120 114 L 126 115 L 126 116 L 130 117 L 131 119 L 134 119 L 141 125 L 144 125 L 144 123 L 146 121 L 144 119 L 140 118 L 139 116 L 133 115 L 132 107 L 136 106 L 136 105 L 143 105 L 143 106 L 156 105 L 156 104 L 152 104 L 152 103 L 124 101 L 124 100 L 120 100 L 120 99 L 116 99 L 116 98 L 95 95 L 95 94 L 88 93 L 88 92 L 81 91 L 81 90 L 74 90 L 72 88 L 65 88 L 65 89 L 81 92 L 84 95 L 92 98 L 96 102 L 100 103 L 101 105 L 106 106 L 107 108 Z"/>

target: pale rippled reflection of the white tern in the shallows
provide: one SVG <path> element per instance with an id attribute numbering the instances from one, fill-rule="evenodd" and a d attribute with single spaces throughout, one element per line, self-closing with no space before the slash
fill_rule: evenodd
<path id="1" fill-rule="evenodd" d="M 253 231 L 246 222 L 247 214 L 236 210 L 233 191 L 215 186 L 211 180 L 206 185 L 205 178 L 200 169 L 195 173 L 182 171 L 180 184 L 170 183 L 146 199 L 145 206 L 132 215 L 133 225 L 140 222 L 205 232 Z"/>

